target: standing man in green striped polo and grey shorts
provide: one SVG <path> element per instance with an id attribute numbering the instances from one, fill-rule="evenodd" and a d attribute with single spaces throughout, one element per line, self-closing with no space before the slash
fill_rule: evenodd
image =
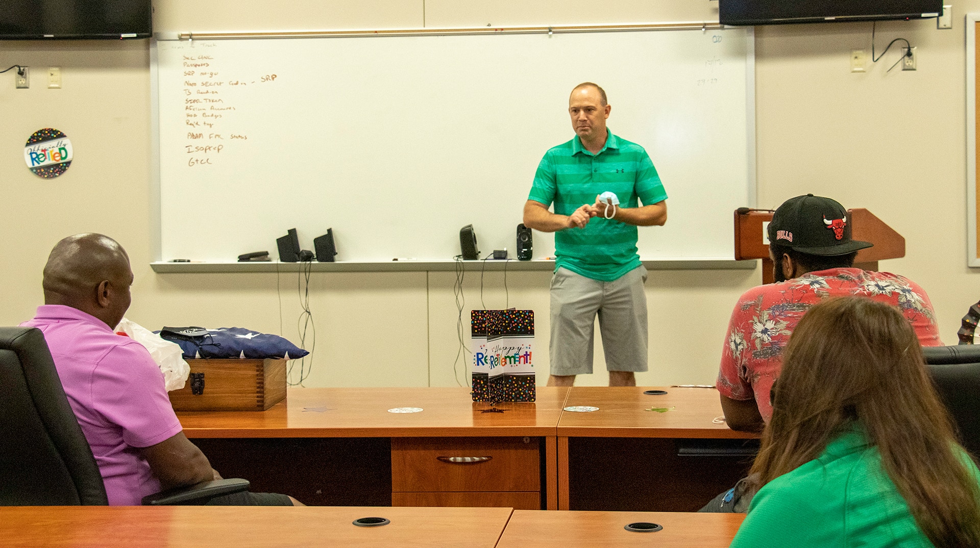
<path id="1" fill-rule="evenodd" d="M 545 153 L 524 205 L 525 226 L 556 233 L 549 386 L 592 373 L 596 314 L 610 386 L 636 386 L 634 372 L 647 370 L 647 270 L 636 227 L 666 222 L 667 195 L 643 147 L 606 128 L 611 110 L 603 88 L 575 86 L 568 99 L 575 137 Z"/>

